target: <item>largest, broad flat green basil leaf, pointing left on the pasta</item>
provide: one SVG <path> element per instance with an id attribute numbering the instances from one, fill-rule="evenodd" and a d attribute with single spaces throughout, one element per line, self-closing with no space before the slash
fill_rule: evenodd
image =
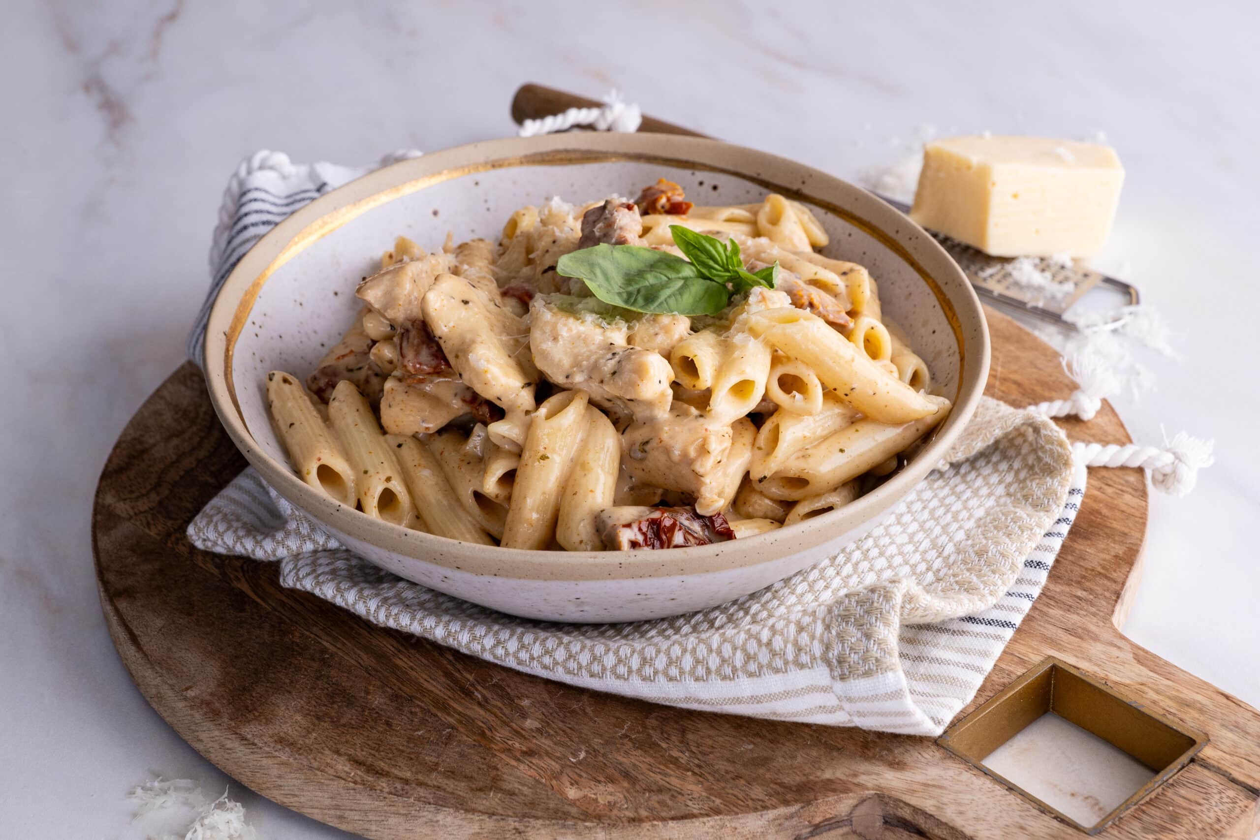
<path id="1" fill-rule="evenodd" d="M 731 292 L 682 257 L 639 246 L 598 244 L 564 254 L 556 272 L 577 277 L 605 304 L 677 315 L 716 315 Z"/>

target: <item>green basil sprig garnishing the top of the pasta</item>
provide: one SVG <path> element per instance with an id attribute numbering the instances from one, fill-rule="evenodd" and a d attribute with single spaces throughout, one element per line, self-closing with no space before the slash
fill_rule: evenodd
<path id="1" fill-rule="evenodd" d="M 636 312 L 717 315 L 732 295 L 775 287 L 777 262 L 750 272 L 733 239 L 723 244 L 678 224 L 669 229 L 688 259 L 639 246 L 598 244 L 564 254 L 556 272 L 581 280 L 605 304 Z"/>

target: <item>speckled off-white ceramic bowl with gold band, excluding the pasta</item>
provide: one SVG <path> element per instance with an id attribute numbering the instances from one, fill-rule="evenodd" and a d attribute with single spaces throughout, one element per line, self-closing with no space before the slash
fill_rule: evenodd
<path id="1" fill-rule="evenodd" d="M 352 322 L 355 282 L 396 236 L 496 239 L 509 214 L 552 195 L 634 194 L 658 178 L 699 204 L 808 204 L 824 253 L 862 263 L 888 317 L 954 400 L 931 442 L 853 504 L 793 528 L 716 545 L 639 552 L 486 548 L 391 525 L 345 508 L 290 470 L 267 417 L 268 370 L 309 373 Z M 205 373 L 223 424 L 280 495 L 364 558 L 410 581 L 518 616 L 607 622 L 718 604 L 798 572 L 857 539 L 941 460 L 980 399 L 989 368 L 984 314 L 963 272 L 905 215 L 869 193 L 765 152 L 693 137 L 570 133 L 461 146 L 394 164 L 281 222 L 237 264 L 210 312 Z"/>

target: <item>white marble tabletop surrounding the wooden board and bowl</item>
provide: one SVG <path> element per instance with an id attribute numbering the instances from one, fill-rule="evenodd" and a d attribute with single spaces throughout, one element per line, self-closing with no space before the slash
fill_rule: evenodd
<path id="1" fill-rule="evenodd" d="M 120 429 L 181 361 L 224 180 L 246 154 L 374 160 L 513 131 L 527 79 L 842 176 L 941 132 L 1106 131 L 1128 183 L 1096 262 L 1184 334 L 1134 437 L 1216 438 L 1155 497 L 1125 632 L 1260 704 L 1260 355 L 1251 4 L 529 5 L 16 0 L 0 28 L 0 835 L 141 837 L 150 769 L 226 780 L 158 718 L 96 602 L 88 515 Z M 672 47 L 649 48 L 664 39 Z M 663 58 L 662 58 L 663 57 Z M 654 69 L 656 63 L 672 69 Z M 267 837 L 339 836 L 242 791 Z"/>

